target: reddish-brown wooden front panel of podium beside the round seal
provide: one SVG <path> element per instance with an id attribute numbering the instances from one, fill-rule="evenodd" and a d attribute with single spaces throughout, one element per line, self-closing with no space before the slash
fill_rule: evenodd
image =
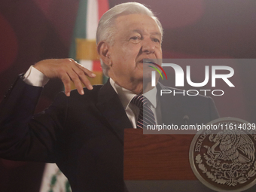
<path id="1" fill-rule="evenodd" d="M 124 130 L 124 180 L 197 180 L 189 163 L 194 135 L 144 135 Z"/>

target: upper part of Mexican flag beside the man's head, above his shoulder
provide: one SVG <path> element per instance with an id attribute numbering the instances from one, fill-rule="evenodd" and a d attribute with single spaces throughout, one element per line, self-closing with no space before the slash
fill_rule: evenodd
<path id="1" fill-rule="evenodd" d="M 102 84 L 103 75 L 96 50 L 99 19 L 108 11 L 108 0 L 81 0 L 69 57 L 96 74 L 91 84 Z"/>

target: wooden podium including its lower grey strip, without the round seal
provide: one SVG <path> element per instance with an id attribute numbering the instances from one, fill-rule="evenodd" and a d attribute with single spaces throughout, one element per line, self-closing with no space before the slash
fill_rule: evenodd
<path id="1" fill-rule="evenodd" d="M 190 168 L 194 135 L 151 135 L 124 130 L 123 178 L 129 192 L 214 192 Z M 230 190 L 231 191 L 231 190 Z M 256 191 L 256 184 L 245 190 Z"/>

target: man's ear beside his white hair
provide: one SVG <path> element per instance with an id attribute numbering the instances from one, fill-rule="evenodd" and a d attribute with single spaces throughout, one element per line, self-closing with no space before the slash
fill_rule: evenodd
<path id="1" fill-rule="evenodd" d="M 110 57 L 110 51 L 109 51 L 109 45 L 105 41 L 100 41 L 97 45 L 97 51 L 99 54 L 99 58 L 102 59 L 102 61 L 110 67 L 112 64 L 111 57 Z"/>

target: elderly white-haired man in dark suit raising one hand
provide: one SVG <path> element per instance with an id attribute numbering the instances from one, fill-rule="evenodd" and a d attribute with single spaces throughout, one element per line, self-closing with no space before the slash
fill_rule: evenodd
<path id="1" fill-rule="evenodd" d="M 143 88 L 153 96 L 148 103 L 157 123 L 180 124 L 184 114 L 191 115 L 191 123 L 218 117 L 208 97 L 178 96 L 171 102 L 157 99 L 157 87 L 143 87 L 143 59 L 162 58 L 162 35 L 160 22 L 144 5 L 117 5 L 97 30 L 108 83 L 92 87 L 87 76 L 95 75 L 72 59 L 42 60 L 20 75 L 0 108 L 0 157 L 56 163 L 74 192 L 123 191 L 123 129 L 139 127 L 133 97 Z M 59 93 L 49 108 L 33 115 L 49 78 L 60 78 L 66 95 Z M 70 90 L 71 81 L 78 91 Z"/>

